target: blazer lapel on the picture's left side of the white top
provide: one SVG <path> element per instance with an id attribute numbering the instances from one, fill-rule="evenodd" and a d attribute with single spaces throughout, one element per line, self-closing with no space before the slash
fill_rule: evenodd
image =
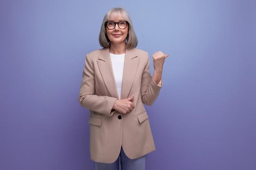
<path id="1" fill-rule="evenodd" d="M 101 50 L 97 63 L 108 92 L 110 93 L 111 97 L 116 97 L 118 99 L 119 97 L 108 48 Z"/>

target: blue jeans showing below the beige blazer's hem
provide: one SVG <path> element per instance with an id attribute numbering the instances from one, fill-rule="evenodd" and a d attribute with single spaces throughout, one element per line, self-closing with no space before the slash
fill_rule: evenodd
<path id="1" fill-rule="evenodd" d="M 130 159 L 125 155 L 123 148 L 121 148 L 120 155 L 114 163 L 94 162 L 94 170 L 119 170 L 119 160 L 121 170 L 145 170 L 146 158 L 147 155 L 137 159 Z"/>

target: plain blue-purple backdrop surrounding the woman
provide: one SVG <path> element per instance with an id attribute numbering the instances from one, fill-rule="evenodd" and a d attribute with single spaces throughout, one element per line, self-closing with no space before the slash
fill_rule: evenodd
<path id="1" fill-rule="evenodd" d="M 170 54 L 147 170 L 256 170 L 255 0 L 1 0 L 0 170 L 92 170 L 85 55 L 111 7 Z"/>

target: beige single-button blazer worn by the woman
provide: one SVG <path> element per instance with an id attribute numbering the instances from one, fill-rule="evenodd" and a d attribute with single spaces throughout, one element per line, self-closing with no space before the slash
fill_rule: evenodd
<path id="1" fill-rule="evenodd" d="M 132 102 L 135 108 L 121 114 L 112 110 L 119 97 L 109 49 L 86 55 L 79 102 L 90 109 L 90 155 L 93 161 L 113 163 L 119 156 L 121 146 L 130 159 L 155 150 L 143 104 L 153 104 L 162 87 L 162 80 L 158 85 L 153 81 L 149 65 L 146 51 L 126 49 L 121 99 L 134 95 Z"/>

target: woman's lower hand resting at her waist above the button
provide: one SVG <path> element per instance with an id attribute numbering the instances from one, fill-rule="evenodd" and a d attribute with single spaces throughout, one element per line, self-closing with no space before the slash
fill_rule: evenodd
<path id="1" fill-rule="evenodd" d="M 128 113 L 130 112 L 130 110 L 132 110 L 135 105 L 132 101 L 134 95 L 132 95 L 132 97 L 129 97 L 127 99 L 117 99 L 113 108 L 117 111 L 119 111 L 120 113 Z"/>

